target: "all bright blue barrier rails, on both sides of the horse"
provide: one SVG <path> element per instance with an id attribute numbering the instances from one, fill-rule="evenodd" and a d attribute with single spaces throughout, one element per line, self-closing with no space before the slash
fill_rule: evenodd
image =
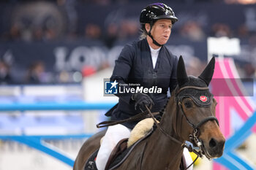
<path id="1" fill-rule="evenodd" d="M 113 103 L 86 103 L 86 102 L 70 102 L 70 103 L 37 103 L 37 104 L 0 104 L 0 112 L 4 111 L 26 111 L 26 110 L 93 110 L 93 109 L 110 109 L 115 104 Z M 1 113 L 0 113 L 1 114 Z M 249 120 L 244 123 L 243 127 L 236 132 L 230 139 L 226 142 L 225 152 L 221 158 L 217 158 L 214 161 L 221 163 L 222 165 L 230 169 L 254 169 L 255 167 L 244 162 L 243 159 L 233 154 L 233 150 L 238 147 L 241 142 L 252 133 L 251 129 L 256 123 L 256 112 L 249 118 Z M 75 163 L 72 158 L 60 152 L 58 149 L 53 149 L 50 144 L 42 142 L 43 139 L 78 139 L 78 138 L 89 138 L 92 134 L 76 134 L 76 135 L 54 135 L 54 136 L 0 136 L 0 139 L 11 139 L 16 142 L 20 142 L 28 145 L 29 147 L 34 147 L 37 150 L 47 153 L 53 158 L 58 159 L 69 166 L 73 166 Z"/>

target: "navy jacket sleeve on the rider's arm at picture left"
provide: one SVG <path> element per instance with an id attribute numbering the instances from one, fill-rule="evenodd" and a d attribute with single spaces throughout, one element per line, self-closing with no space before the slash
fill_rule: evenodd
<path id="1" fill-rule="evenodd" d="M 123 50 L 121 51 L 118 59 L 116 60 L 115 67 L 113 69 L 113 74 L 110 77 L 110 81 L 118 82 L 119 84 L 127 84 L 127 80 L 129 77 L 129 73 L 132 69 L 132 61 L 135 57 L 135 48 L 132 45 L 124 46 Z M 130 88 L 129 85 L 126 88 Z M 125 101 L 127 104 L 132 103 L 132 93 L 126 94 L 116 94 L 118 98 Z"/>

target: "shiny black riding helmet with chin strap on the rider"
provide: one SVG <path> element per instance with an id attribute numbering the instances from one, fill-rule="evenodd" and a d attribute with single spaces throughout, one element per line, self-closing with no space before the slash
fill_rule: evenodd
<path id="1" fill-rule="evenodd" d="M 140 13 L 140 24 L 144 31 L 146 31 L 146 23 L 149 23 L 152 28 L 154 23 L 159 19 L 170 19 L 173 24 L 178 21 L 178 18 L 176 18 L 173 9 L 162 3 L 150 4 Z M 151 36 L 151 28 L 148 32 L 146 31 L 146 33 L 151 37 L 155 45 L 161 47 L 162 45 L 159 45 L 159 43 L 154 40 L 153 36 Z"/>

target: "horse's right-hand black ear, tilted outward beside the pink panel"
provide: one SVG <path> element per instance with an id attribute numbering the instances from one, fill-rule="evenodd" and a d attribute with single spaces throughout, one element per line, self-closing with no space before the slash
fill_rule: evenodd
<path id="1" fill-rule="evenodd" d="M 199 78 L 206 82 L 208 86 L 211 82 L 211 78 L 214 75 L 215 57 L 211 58 L 211 61 L 206 66 L 206 69 L 200 74 Z"/>

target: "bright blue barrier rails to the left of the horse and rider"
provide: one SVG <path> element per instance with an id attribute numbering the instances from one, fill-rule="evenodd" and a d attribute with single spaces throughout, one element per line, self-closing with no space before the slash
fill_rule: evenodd
<path id="1" fill-rule="evenodd" d="M 96 110 L 96 109 L 110 109 L 114 103 L 87 103 L 83 101 L 79 102 L 42 102 L 42 103 L 12 103 L 12 104 L 0 104 L 0 112 L 6 111 L 28 111 L 28 110 Z M 1 114 L 1 113 L 0 113 Z M 69 158 L 67 154 L 64 154 L 58 148 L 54 148 L 50 144 L 43 142 L 44 139 L 78 139 L 89 138 L 92 134 L 75 134 L 75 135 L 54 135 L 54 136 L 26 136 L 26 135 L 0 135 L 0 139 L 13 140 L 26 144 L 29 147 L 45 152 L 46 154 L 58 159 L 69 166 L 73 166 L 75 161 Z"/>

